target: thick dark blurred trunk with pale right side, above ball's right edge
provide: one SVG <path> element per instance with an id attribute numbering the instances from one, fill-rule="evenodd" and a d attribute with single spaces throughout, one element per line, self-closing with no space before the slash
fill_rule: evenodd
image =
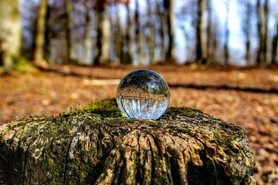
<path id="1" fill-rule="evenodd" d="M 167 15 L 167 35 L 168 35 L 168 46 L 167 46 L 167 61 L 175 61 L 175 45 L 174 45 L 174 0 L 164 0 L 164 8 Z"/>

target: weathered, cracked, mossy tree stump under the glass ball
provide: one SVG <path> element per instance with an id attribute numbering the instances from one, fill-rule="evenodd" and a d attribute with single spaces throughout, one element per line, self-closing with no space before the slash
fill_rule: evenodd
<path id="1" fill-rule="evenodd" d="M 115 99 L 0 127 L 0 184 L 254 184 L 245 132 L 190 108 L 124 118 Z"/>

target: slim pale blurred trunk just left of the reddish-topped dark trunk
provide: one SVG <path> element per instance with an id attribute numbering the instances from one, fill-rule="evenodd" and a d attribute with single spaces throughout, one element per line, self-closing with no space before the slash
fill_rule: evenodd
<path id="1" fill-rule="evenodd" d="M 89 64 L 89 53 L 91 44 L 91 19 L 90 19 L 90 3 L 91 1 L 84 1 L 85 6 L 85 32 L 83 42 L 83 63 Z"/>

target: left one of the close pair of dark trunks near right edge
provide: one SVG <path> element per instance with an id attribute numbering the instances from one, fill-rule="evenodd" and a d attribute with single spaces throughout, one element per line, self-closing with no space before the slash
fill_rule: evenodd
<path id="1" fill-rule="evenodd" d="M 258 30 L 258 39 L 259 39 L 259 49 L 258 49 L 258 55 L 257 55 L 257 64 L 261 65 L 263 61 L 263 40 L 264 40 L 264 34 L 263 34 L 263 6 L 261 6 L 261 0 L 256 1 L 256 13 L 257 13 L 257 30 Z"/>

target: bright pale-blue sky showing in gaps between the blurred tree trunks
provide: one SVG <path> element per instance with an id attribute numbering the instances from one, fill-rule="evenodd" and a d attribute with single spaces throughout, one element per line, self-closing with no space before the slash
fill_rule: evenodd
<path id="1" fill-rule="evenodd" d="M 75 11 L 73 12 L 74 17 L 74 50 L 76 51 L 76 56 L 79 60 L 82 60 L 83 55 L 83 28 L 79 28 L 83 24 L 84 21 L 84 7 L 82 5 L 82 1 L 73 1 L 76 4 Z M 231 64 L 240 64 L 245 65 L 245 35 L 244 35 L 244 25 L 245 25 L 245 17 L 246 15 L 246 3 L 249 2 L 251 5 L 251 24 L 250 24 L 250 39 L 251 39 L 251 51 L 252 51 L 252 63 L 256 60 L 256 51 L 258 49 L 258 35 L 257 35 L 257 20 L 256 20 L 256 0 L 211 0 L 212 6 L 212 21 L 213 28 L 215 28 L 215 34 L 217 35 L 218 47 L 216 53 L 216 60 L 220 63 L 224 63 L 224 42 L 225 42 L 225 29 L 229 29 L 229 51 L 230 58 L 229 62 Z M 26 49 L 30 49 L 33 43 L 33 34 L 32 28 L 34 26 L 34 19 L 36 15 L 36 11 L 38 10 L 39 1 L 38 0 L 21 0 L 22 6 L 22 20 L 24 23 L 24 37 L 25 42 L 24 46 Z M 152 12 L 156 13 L 157 5 L 156 3 L 162 6 L 162 1 L 159 0 L 151 0 L 152 4 Z M 59 6 L 63 6 L 63 3 L 60 1 L 49 1 L 50 6 L 58 8 Z M 262 2 L 263 4 L 263 2 Z M 129 3 L 131 8 L 131 13 L 135 12 L 135 1 L 131 0 Z M 140 8 L 140 19 L 142 19 L 142 25 L 147 24 L 147 7 L 148 1 L 139 1 Z M 271 48 L 272 48 L 272 38 L 275 37 L 277 33 L 276 25 L 277 25 L 277 7 L 278 2 L 275 0 L 269 1 L 269 19 L 268 19 L 268 60 L 271 60 Z M 227 11 L 229 10 L 229 11 Z M 60 16 L 63 15 L 62 10 L 60 11 Z M 116 19 L 117 15 L 120 15 L 120 24 L 122 28 L 126 28 L 126 7 L 123 3 L 111 3 L 108 6 L 108 12 L 110 19 Z M 92 25 L 96 24 L 95 13 L 92 10 Z M 197 1 L 196 0 L 176 0 L 174 1 L 174 40 L 176 44 L 176 53 L 177 53 L 177 62 L 184 63 L 188 61 L 195 60 L 195 45 L 196 45 L 196 14 L 197 14 Z M 228 17 L 228 19 L 227 19 Z M 65 18 L 65 17 L 64 17 Z M 54 24 L 62 25 L 64 24 L 63 17 L 54 16 L 55 19 Z M 208 12 L 204 12 L 204 31 L 206 31 L 208 24 Z M 227 23 L 226 23 L 227 21 Z M 152 24 L 158 24 L 158 17 L 152 18 Z M 228 25 L 225 28 L 225 24 Z M 93 26 L 94 27 L 94 26 Z M 115 25 L 111 25 L 111 29 L 115 28 Z M 60 30 L 63 32 L 62 30 Z M 147 32 L 147 30 L 141 30 Z M 111 33 L 111 37 L 118 37 L 116 33 Z M 157 37 L 159 36 L 158 30 L 156 31 Z M 91 37 L 94 39 L 97 37 L 97 33 L 95 29 L 91 30 Z M 146 41 L 147 42 L 147 41 Z M 92 50 L 92 44 L 90 45 L 90 51 Z M 161 55 L 159 53 L 159 41 L 156 43 L 156 59 L 161 60 Z M 65 62 L 65 58 L 61 58 L 61 50 L 65 49 L 65 43 L 63 41 L 63 37 L 58 36 L 54 38 L 52 42 L 52 49 L 54 55 L 54 61 L 58 63 Z M 113 46 L 111 46 L 111 60 L 115 60 L 115 50 L 113 50 Z M 63 50 L 62 50 L 63 51 Z M 135 54 L 136 55 L 136 54 Z M 95 54 L 90 52 L 90 56 L 88 59 L 88 64 L 92 64 L 93 58 Z M 115 61 L 114 61 L 115 62 Z M 149 64 L 149 56 L 145 55 L 145 64 Z M 137 57 L 134 58 L 133 64 L 138 64 Z"/>

